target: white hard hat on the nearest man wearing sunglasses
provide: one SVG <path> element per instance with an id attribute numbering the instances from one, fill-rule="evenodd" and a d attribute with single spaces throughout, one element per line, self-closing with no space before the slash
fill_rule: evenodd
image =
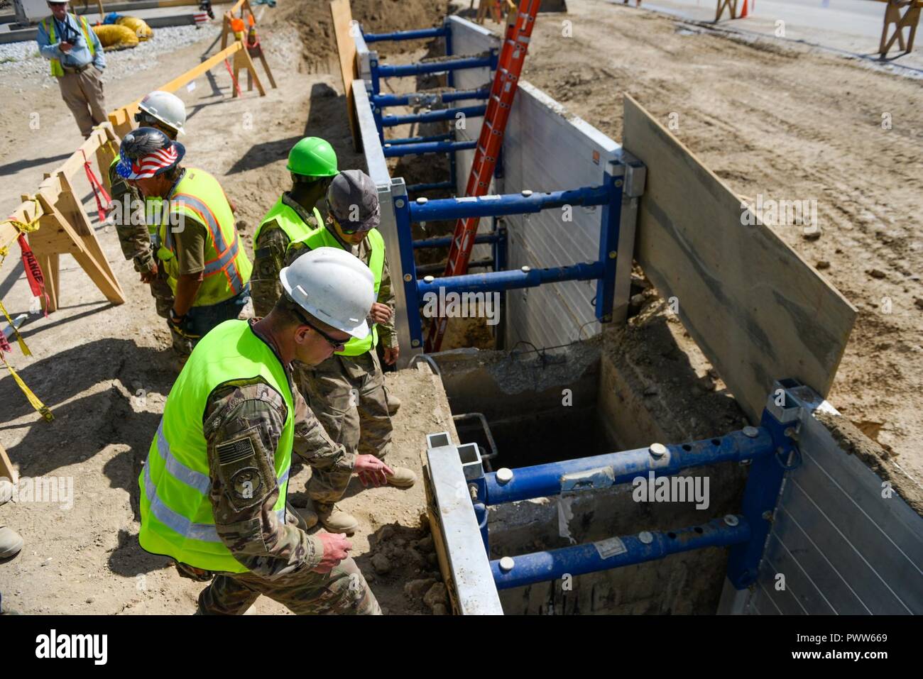
<path id="1" fill-rule="evenodd" d="M 310 250 L 279 272 L 285 292 L 305 311 L 360 340 L 375 302 L 375 279 L 359 257 L 339 247 Z"/>

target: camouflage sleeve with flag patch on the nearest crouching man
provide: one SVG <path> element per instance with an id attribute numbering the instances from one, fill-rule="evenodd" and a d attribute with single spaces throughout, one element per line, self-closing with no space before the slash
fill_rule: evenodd
<path id="1" fill-rule="evenodd" d="M 286 525 L 272 508 L 285 417 L 282 395 L 259 378 L 216 388 L 204 416 L 215 528 L 234 558 L 261 578 L 314 568 L 324 551 L 317 536 Z"/>

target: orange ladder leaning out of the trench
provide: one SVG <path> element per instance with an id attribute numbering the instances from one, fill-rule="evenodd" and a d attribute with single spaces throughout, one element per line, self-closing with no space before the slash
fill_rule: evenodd
<path id="1" fill-rule="evenodd" d="M 506 36 L 497 61 L 497 75 L 494 76 L 494 84 L 490 89 L 490 99 L 487 101 L 481 134 L 477 139 L 471 174 L 468 175 L 466 197 L 485 196 L 490 187 L 540 4 L 541 0 L 521 0 L 515 18 L 512 13 L 508 17 Z M 471 259 L 474 234 L 477 232 L 479 221 L 478 217 L 469 217 L 462 218 L 455 224 L 455 235 L 449 250 L 445 276 L 462 276 L 468 271 L 468 261 Z M 442 309 L 439 309 L 439 315 L 433 319 L 426 336 L 427 352 L 439 351 L 448 321 L 448 317 L 443 316 Z"/>

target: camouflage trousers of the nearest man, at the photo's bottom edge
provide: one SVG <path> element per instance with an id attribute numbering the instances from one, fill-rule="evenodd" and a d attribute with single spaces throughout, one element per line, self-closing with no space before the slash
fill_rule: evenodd
<path id="1" fill-rule="evenodd" d="M 296 615 L 380 615 L 359 566 L 344 559 L 330 573 L 300 571 L 268 580 L 253 573 L 219 573 L 198 595 L 199 615 L 242 615 L 259 595 Z"/>

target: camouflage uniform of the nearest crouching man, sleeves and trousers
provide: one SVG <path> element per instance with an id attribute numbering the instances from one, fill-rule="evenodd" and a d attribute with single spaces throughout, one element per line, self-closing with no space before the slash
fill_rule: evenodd
<path id="1" fill-rule="evenodd" d="M 294 453 L 313 470 L 346 474 L 348 478 L 353 467 L 350 456 L 330 440 L 294 388 L 291 372 L 286 372 L 294 398 Z M 186 577 L 206 580 L 214 575 L 209 587 L 199 594 L 198 613 L 245 613 L 263 594 L 299 614 L 379 614 L 375 595 L 352 558 L 344 559 L 330 573 L 314 572 L 312 568 L 323 556 L 322 542 L 317 535 L 308 535 L 293 525 L 291 515 L 283 524 L 272 509 L 279 496 L 274 451 L 285 417 L 282 396 L 259 377 L 226 383 L 210 394 L 203 433 L 208 445 L 215 528 L 249 572 L 212 574 L 179 564 Z M 257 484 L 265 492 L 243 501 L 225 482 L 232 474 L 222 471 L 217 450 L 222 443 L 239 441 L 242 435 L 253 443 L 253 455 L 235 462 L 234 470 L 254 468 L 266 477 Z"/>

